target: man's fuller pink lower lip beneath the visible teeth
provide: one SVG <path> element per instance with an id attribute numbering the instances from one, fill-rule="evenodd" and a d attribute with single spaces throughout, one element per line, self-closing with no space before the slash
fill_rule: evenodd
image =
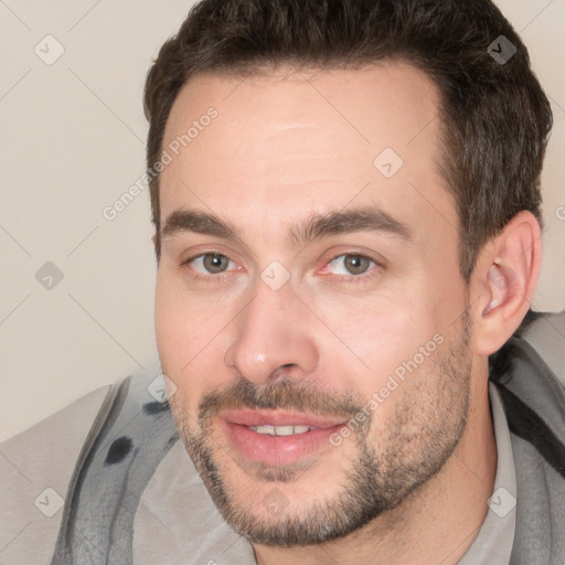
<path id="1" fill-rule="evenodd" d="M 330 428 L 318 428 L 294 436 L 270 436 L 257 434 L 241 424 L 220 420 L 230 441 L 250 461 L 259 461 L 269 466 L 294 463 L 330 447 L 330 436 L 338 431 L 343 424 Z"/>

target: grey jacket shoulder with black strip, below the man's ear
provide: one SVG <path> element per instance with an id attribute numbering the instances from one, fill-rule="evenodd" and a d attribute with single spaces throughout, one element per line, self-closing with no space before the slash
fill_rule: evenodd
<path id="1" fill-rule="evenodd" d="M 529 313 L 491 361 L 491 379 L 511 431 L 518 484 L 511 562 L 562 563 L 565 313 Z"/>

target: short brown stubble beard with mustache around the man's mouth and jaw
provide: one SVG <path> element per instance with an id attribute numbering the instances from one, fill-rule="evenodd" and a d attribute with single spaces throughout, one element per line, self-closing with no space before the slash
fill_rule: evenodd
<path id="1" fill-rule="evenodd" d="M 281 380 L 259 388 L 241 379 L 231 387 L 202 398 L 199 426 L 194 427 L 190 426 L 191 418 L 182 402 L 177 399 L 180 395 L 171 398 L 181 439 L 224 520 L 252 543 L 292 547 L 347 536 L 399 507 L 440 471 L 465 431 L 470 403 L 470 318 L 466 312 L 460 335 L 426 360 L 425 365 L 431 370 L 427 370 L 425 379 L 418 375 L 412 382 L 411 375 L 401 385 L 403 402 L 396 406 L 394 417 L 379 423 L 377 408 L 366 425 L 354 431 L 358 456 L 343 478 L 338 477 L 339 492 L 300 511 L 296 508 L 294 511 L 292 502 L 301 504 L 301 501 L 290 500 L 282 511 L 265 518 L 264 508 L 257 509 L 256 503 L 241 500 L 237 486 L 230 482 L 230 471 L 218 463 L 216 455 L 221 448 L 217 440 L 211 439 L 214 415 L 220 408 L 227 407 L 286 407 L 344 416 L 349 420 L 362 411 L 363 403 L 355 402 L 352 396 L 328 395 L 298 381 Z M 417 372 L 425 370 L 426 366 L 420 366 Z M 382 430 L 376 447 L 374 441 L 371 443 L 372 420 Z M 224 460 L 235 465 L 231 457 L 224 457 Z M 257 481 L 257 488 L 265 483 L 276 488 L 308 480 L 308 467 L 300 463 L 267 467 L 249 462 L 242 469 L 250 483 Z M 331 480 L 331 467 L 329 472 Z M 312 486 L 317 487 L 319 484 Z"/>

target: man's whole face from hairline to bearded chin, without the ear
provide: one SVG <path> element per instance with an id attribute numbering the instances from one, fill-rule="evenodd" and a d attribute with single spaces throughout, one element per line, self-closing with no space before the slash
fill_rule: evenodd
<path id="1" fill-rule="evenodd" d="M 352 532 L 465 429 L 468 296 L 439 132 L 431 82 L 392 63 L 201 75 L 174 103 L 159 354 L 189 454 L 254 542 Z"/>

